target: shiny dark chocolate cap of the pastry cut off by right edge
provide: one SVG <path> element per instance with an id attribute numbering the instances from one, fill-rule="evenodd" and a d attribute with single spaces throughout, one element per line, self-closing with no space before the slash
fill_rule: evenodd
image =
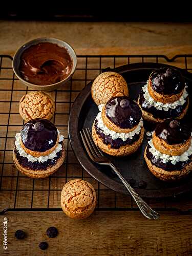
<path id="1" fill-rule="evenodd" d="M 167 119 L 157 125 L 155 135 L 164 140 L 167 144 L 180 144 L 188 140 L 190 137 L 190 129 L 181 120 Z"/>

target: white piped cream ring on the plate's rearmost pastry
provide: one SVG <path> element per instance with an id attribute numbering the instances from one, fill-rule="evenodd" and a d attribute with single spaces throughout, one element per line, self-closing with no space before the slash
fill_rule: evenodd
<path id="1" fill-rule="evenodd" d="M 148 81 L 147 81 L 147 83 L 148 83 Z M 176 106 L 183 105 L 188 96 L 188 93 L 186 91 L 187 86 L 185 86 L 182 96 L 177 101 L 175 101 L 173 103 L 165 103 L 164 104 L 162 102 L 156 101 L 155 99 L 153 99 L 150 96 L 150 94 L 148 93 L 148 89 L 147 89 L 147 83 L 145 84 L 144 87 L 142 87 L 142 90 L 144 92 L 143 96 L 145 99 L 144 104 L 149 107 L 154 106 L 157 110 L 168 111 L 168 109 L 175 109 Z"/>

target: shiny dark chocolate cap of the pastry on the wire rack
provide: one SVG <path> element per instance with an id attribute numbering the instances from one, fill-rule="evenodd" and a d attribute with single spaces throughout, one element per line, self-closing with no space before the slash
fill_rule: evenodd
<path id="1" fill-rule="evenodd" d="M 57 129 L 49 120 L 36 118 L 24 124 L 20 137 L 29 150 L 45 152 L 55 145 Z"/>

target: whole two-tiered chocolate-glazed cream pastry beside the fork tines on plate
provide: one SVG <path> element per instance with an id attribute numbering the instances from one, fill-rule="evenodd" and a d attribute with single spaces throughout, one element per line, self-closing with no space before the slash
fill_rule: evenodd
<path id="1" fill-rule="evenodd" d="M 99 111 L 92 127 L 95 144 L 112 156 L 136 152 L 144 134 L 142 113 L 137 102 L 126 96 L 113 97 L 100 104 Z"/>

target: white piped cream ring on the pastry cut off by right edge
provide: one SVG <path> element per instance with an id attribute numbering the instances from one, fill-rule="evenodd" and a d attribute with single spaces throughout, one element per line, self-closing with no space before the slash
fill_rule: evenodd
<path id="1" fill-rule="evenodd" d="M 183 153 L 180 156 L 170 156 L 170 155 L 162 154 L 161 152 L 156 150 L 153 144 L 153 139 L 148 141 L 148 144 L 151 146 L 148 150 L 152 153 L 152 155 L 156 159 L 159 159 L 159 158 L 162 159 L 163 163 L 167 163 L 168 161 L 170 161 L 172 164 L 176 164 L 179 161 L 184 162 L 184 161 L 190 160 L 189 156 L 192 155 L 192 140 L 188 150 L 185 151 L 185 153 Z"/>

